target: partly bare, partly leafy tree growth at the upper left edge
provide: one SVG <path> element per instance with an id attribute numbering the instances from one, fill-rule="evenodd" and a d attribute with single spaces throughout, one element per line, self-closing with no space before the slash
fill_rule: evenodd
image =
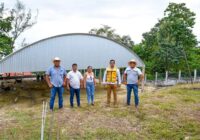
<path id="1" fill-rule="evenodd" d="M 5 10 L 4 3 L 0 5 L 0 59 L 13 52 L 16 40 L 36 23 L 37 15 L 33 16 L 31 9 L 18 0 L 9 10 Z"/>

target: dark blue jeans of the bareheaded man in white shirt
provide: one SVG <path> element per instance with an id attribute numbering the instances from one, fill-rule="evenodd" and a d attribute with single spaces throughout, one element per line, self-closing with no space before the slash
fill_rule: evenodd
<path id="1" fill-rule="evenodd" d="M 70 105 L 74 106 L 74 94 L 76 94 L 77 105 L 80 106 L 80 88 L 74 89 L 73 87 L 70 87 Z"/>

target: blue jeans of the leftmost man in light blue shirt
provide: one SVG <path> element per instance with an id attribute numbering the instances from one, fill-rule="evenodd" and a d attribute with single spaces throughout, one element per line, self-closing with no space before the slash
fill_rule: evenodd
<path id="1" fill-rule="evenodd" d="M 56 93 L 58 92 L 58 106 L 59 108 L 63 107 L 63 97 L 62 94 L 64 92 L 64 88 L 63 87 L 52 87 L 51 88 L 51 98 L 50 98 L 50 109 L 53 109 L 54 107 L 54 101 L 55 101 L 55 97 L 56 97 Z"/>

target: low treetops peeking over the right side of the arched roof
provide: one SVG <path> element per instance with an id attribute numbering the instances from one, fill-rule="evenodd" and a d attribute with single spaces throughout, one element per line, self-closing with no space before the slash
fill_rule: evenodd
<path id="1" fill-rule="evenodd" d="M 112 29 L 108 25 L 103 25 L 101 28 L 93 28 L 89 31 L 89 33 L 113 39 L 127 47 L 132 47 L 134 45 L 134 42 L 129 35 L 120 36 L 115 33 L 115 29 Z"/>

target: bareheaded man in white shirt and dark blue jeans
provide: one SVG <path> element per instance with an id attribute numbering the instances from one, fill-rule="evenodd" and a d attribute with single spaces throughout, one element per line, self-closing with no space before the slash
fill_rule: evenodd
<path id="1" fill-rule="evenodd" d="M 70 106 L 74 106 L 76 94 L 77 106 L 80 107 L 80 88 L 83 87 L 83 76 L 77 70 L 77 64 L 72 64 L 72 70 L 67 74 L 67 89 L 70 90 Z"/>

